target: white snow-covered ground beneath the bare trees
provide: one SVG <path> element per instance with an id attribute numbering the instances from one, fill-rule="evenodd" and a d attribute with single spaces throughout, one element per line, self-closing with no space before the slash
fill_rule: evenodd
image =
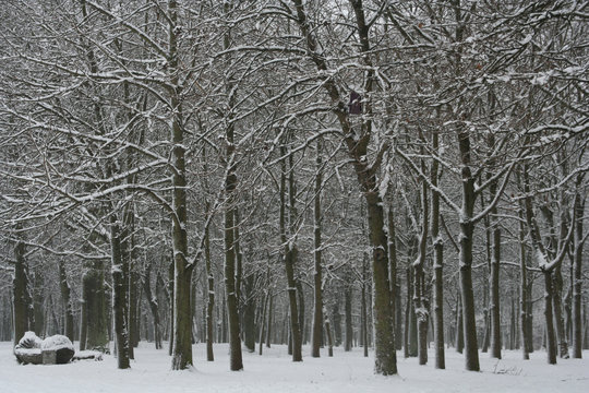
<path id="1" fill-rule="evenodd" d="M 76 343 L 77 344 L 77 343 Z M 171 371 L 167 350 L 156 350 L 142 343 L 135 352 L 131 370 L 117 370 L 116 359 L 83 360 L 60 366 L 21 366 L 12 355 L 11 343 L 0 343 L 0 392 L 589 392 L 589 350 L 585 359 L 558 359 L 549 366 L 545 353 L 537 352 L 531 360 L 520 360 L 519 352 L 504 352 L 503 360 L 481 354 L 481 372 L 464 371 L 461 355 L 448 349 L 446 370 L 432 365 L 419 366 L 416 358 L 399 357 L 399 376 L 372 373 L 372 357 L 361 348 L 344 353 L 335 348 L 333 358 L 314 359 L 304 347 L 303 362 L 293 364 L 285 346 L 264 348 L 264 355 L 243 353 L 245 369 L 228 370 L 228 346 L 216 345 L 216 361 L 207 362 L 205 345 L 194 345 L 192 370 Z M 322 356 L 323 356 L 322 352 Z"/>

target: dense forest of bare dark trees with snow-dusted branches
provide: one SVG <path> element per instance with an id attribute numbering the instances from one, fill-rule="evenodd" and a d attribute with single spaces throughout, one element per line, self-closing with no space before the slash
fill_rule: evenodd
<path id="1" fill-rule="evenodd" d="M 64 334 L 119 368 L 147 341 L 177 370 L 194 343 L 211 361 L 229 343 L 231 370 L 273 344 L 363 346 L 385 376 L 445 350 L 472 371 L 580 358 L 588 19 L 573 0 L 3 1 L 0 341 Z"/>

